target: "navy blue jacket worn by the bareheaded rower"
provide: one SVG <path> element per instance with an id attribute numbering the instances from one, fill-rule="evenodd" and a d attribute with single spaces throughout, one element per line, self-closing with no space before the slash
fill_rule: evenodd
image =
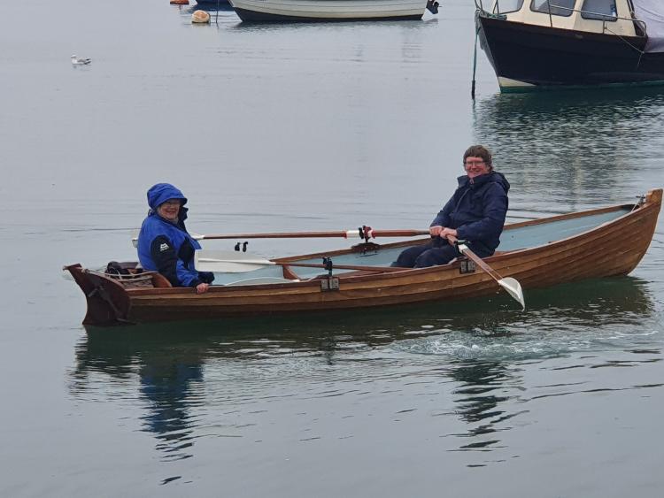
<path id="1" fill-rule="evenodd" d="M 471 247 L 491 255 L 500 243 L 505 225 L 509 188 L 509 182 L 499 172 L 483 174 L 473 180 L 466 175 L 459 176 L 459 188 L 431 226 L 454 228 L 459 240 L 468 241 Z"/>

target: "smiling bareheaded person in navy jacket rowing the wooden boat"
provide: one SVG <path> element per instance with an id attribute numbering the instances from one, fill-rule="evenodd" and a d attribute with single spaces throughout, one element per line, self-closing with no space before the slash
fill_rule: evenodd
<path id="1" fill-rule="evenodd" d="M 510 184 L 502 173 L 493 171 L 491 153 L 482 145 L 466 150 L 463 165 L 466 175 L 459 176 L 459 188 L 429 226 L 433 240 L 405 249 L 394 266 L 425 268 L 449 263 L 459 251 L 447 240 L 448 235 L 466 241 L 479 257 L 494 253 L 505 225 Z"/>

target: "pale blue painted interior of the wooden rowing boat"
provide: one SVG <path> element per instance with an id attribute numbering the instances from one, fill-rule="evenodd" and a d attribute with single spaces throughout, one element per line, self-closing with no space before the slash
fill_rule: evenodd
<path id="1" fill-rule="evenodd" d="M 567 219 L 552 219 L 536 225 L 509 226 L 505 227 L 500 236 L 500 246 L 498 251 L 506 252 L 517 249 L 535 248 L 549 244 L 553 241 L 560 241 L 568 237 L 583 234 L 593 228 L 612 222 L 617 218 L 629 213 L 629 208 L 617 209 L 615 211 L 600 212 Z M 338 265 L 358 265 L 385 267 L 395 261 L 398 254 L 405 247 L 382 248 L 373 253 L 360 254 L 351 253 L 332 257 L 333 264 Z M 321 258 L 303 258 L 298 259 L 297 263 L 321 264 Z M 290 269 L 297 274 L 299 280 L 289 280 L 283 278 L 281 265 L 270 265 L 242 273 L 222 273 L 215 272 L 214 285 L 250 285 L 250 284 L 274 284 L 294 281 L 309 280 L 318 275 L 325 274 L 326 271 L 320 268 L 307 268 L 291 266 Z M 338 275 L 354 270 L 334 269 L 334 274 Z"/>

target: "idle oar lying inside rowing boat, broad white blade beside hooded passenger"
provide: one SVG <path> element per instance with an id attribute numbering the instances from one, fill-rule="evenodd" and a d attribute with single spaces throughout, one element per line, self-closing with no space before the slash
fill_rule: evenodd
<path id="1" fill-rule="evenodd" d="M 232 250 L 198 249 L 194 254 L 194 267 L 198 272 L 243 273 L 259 270 L 266 266 L 298 266 L 305 268 L 325 268 L 324 264 L 298 263 L 297 261 L 273 261 L 253 254 Z M 358 264 L 334 264 L 339 270 L 363 272 L 403 272 L 405 268 L 390 266 L 362 266 Z"/>

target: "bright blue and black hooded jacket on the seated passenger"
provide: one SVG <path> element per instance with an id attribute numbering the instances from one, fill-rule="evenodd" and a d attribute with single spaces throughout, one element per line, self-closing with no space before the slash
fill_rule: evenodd
<path id="1" fill-rule="evenodd" d="M 159 205 L 169 199 L 181 200 L 176 223 L 161 218 L 157 213 Z M 212 273 L 197 272 L 194 268 L 194 251 L 201 249 L 201 245 L 191 238 L 184 226 L 188 211 L 184 207 L 186 203 L 187 197 L 170 183 L 152 186 L 148 190 L 150 211 L 138 234 L 138 259 L 143 268 L 161 273 L 174 287 L 196 287 L 214 280 Z"/>

